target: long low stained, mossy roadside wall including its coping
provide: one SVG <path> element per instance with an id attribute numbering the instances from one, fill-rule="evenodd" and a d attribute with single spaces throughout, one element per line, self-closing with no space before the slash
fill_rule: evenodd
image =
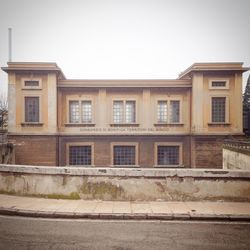
<path id="1" fill-rule="evenodd" d="M 250 171 L 0 165 L 0 193 L 68 199 L 250 202 Z"/>

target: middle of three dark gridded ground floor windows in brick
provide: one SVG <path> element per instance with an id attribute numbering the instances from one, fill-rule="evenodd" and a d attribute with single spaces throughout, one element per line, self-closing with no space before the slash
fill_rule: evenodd
<path id="1" fill-rule="evenodd" d="M 136 149 L 135 146 L 114 146 L 113 148 L 114 165 L 135 165 Z"/>

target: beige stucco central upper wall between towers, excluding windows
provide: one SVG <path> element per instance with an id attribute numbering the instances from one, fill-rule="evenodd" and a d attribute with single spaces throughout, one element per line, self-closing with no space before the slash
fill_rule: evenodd
<path id="1" fill-rule="evenodd" d="M 91 100 L 94 127 L 65 126 L 69 123 L 69 100 Z M 113 101 L 136 101 L 136 125 L 117 128 L 113 124 Z M 155 126 L 157 101 L 180 100 L 180 125 Z M 191 90 L 174 88 L 83 88 L 59 90 L 59 130 L 65 134 L 188 134 L 190 132 Z"/>

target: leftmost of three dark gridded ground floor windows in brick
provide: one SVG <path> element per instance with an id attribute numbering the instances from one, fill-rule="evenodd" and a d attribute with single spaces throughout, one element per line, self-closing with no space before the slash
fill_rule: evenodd
<path id="1" fill-rule="evenodd" d="M 91 165 L 91 146 L 69 146 L 69 165 Z"/>

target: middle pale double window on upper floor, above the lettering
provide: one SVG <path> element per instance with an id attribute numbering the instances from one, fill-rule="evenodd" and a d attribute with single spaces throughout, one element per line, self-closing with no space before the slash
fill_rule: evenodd
<path id="1" fill-rule="evenodd" d="M 135 101 L 114 101 L 113 121 L 114 123 L 135 123 Z"/>

